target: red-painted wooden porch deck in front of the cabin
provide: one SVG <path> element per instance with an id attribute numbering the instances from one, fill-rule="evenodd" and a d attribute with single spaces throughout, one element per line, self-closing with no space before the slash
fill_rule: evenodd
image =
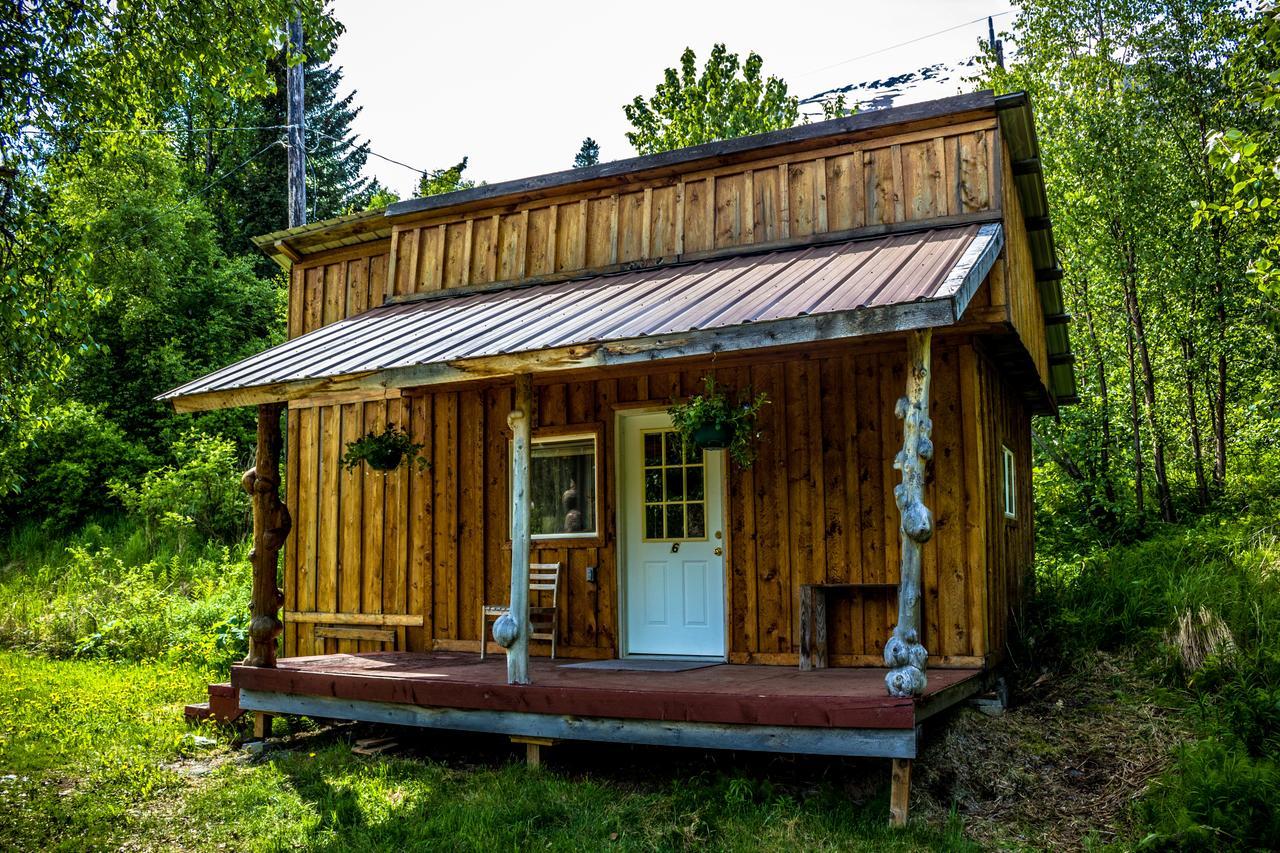
<path id="1" fill-rule="evenodd" d="M 283 658 L 275 669 L 236 666 L 242 690 L 428 708 L 708 722 L 749 726 L 911 730 L 978 692 L 983 671 L 929 670 L 919 699 L 884 690 L 886 670 L 714 665 L 681 672 L 611 671 L 532 658 L 532 684 L 507 684 L 502 656 L 378 652 Z"/>

